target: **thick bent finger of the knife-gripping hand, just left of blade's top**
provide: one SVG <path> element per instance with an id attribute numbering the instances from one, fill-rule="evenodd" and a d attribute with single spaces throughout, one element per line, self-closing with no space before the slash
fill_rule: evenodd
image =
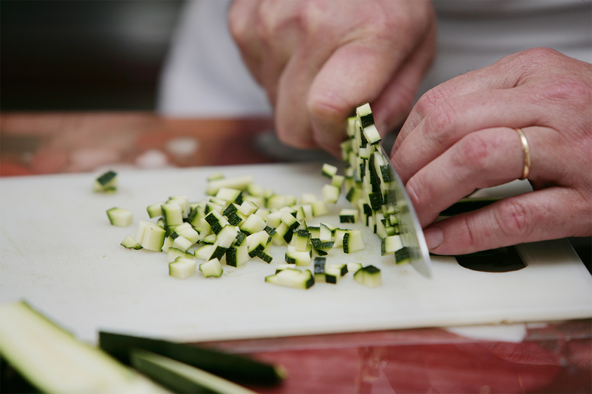
<path id="1" fill-rule="evenodd" d="M 384 89 L 407 53 L 353 42 L 339 47 L 314 78 L 307 97 L 313 138 L 327 151 L 339 155 L 345 125 L 353 108 L 372 101 Z"/>

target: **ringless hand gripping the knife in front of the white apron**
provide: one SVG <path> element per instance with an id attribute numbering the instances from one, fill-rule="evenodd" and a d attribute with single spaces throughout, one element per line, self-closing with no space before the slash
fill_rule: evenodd
<path id="1" fill-rule="evenodd" d="M 435 50 L 426 1 L 235 0 L 229 25 L 279 139 L 336 156 L 361 103 L 380 131 L 404 121 Z"/>

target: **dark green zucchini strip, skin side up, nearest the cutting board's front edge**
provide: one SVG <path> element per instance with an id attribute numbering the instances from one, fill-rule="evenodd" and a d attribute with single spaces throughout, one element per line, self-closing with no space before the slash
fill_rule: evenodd
<path id="1" fill-rule="evenodd" d="M 127 365 L 131 364 L 130 350 L 143 349 L 239 384 L 276 386 L 284 377 L 281 367 L 185 343 L 100 331 L 99 347 Z"/>

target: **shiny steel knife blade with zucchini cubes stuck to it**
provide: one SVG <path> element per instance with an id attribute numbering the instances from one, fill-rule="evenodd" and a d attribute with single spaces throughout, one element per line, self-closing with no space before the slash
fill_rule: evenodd
<path id="1" fill-rule="evenodd" d="M 370 170 L 365 173 L 372 178 L 372 171 L 376 171 L 374 179 L 379 178 L 380 191 L 382 196 L 381 207 L 374 206 L 372 209 L 382 212 L 394 212 L 398 220 L 399 235 L 401 244 L 403 245 L 404 258 L 416 269 L 417 272 L 430 278 L 432 276 L 432 264 L 430 261 L 430 253 L 427 249 L 426 239 L 423 236 L 423 229 L 417 218 L 416 210 L 411 203 L 411 200 L 405 189 L 401 177 L 391 164 L 389 155 L 381 144 L 381 138 L 374 125 L 374 116 L 368 103 L 356 108 L 356 116 L 352 117 L 353 125 L 348 125 L 348 135 L 352 141 L 352 152 L 358 156 L 358 162 L 361 167 L 368 166 Z M 376 156 L 375 154 L 378 154 Z M 374 155 L 374 156 L 373 156 Z M 346 159 L 344 154 L 344 159 Z M 354 165 L 352 158 L 349 157 L 349 164 Z M 378 165 L 377 161 L 380 161 Z M 380 170 L 372 168 L 376 166 Z M 359 180 L 362 181 L 364 177 L 364 170 L 361 170 Z M 375 182 L 368 181 L 366 178 L 366 189 L 372 188 L 372 194 L 375 192 Z M 371 198 L 368 196 L 368 200 Z M 378 205 L 378 204 L 377 204 Z M 396 254 L 395 252 L 395 259 Z"/>

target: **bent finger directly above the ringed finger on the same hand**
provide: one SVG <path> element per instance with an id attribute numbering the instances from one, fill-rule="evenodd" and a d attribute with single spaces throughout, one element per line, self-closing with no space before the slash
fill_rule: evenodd
<path id="1" fill-rule="evenodd" d="M 403 183 L 471 132 L 545 125 L 546 113 L 530 95 L 520 87 L 481 90 L 440 103 L 393 148 L 391 162 Z"/>

